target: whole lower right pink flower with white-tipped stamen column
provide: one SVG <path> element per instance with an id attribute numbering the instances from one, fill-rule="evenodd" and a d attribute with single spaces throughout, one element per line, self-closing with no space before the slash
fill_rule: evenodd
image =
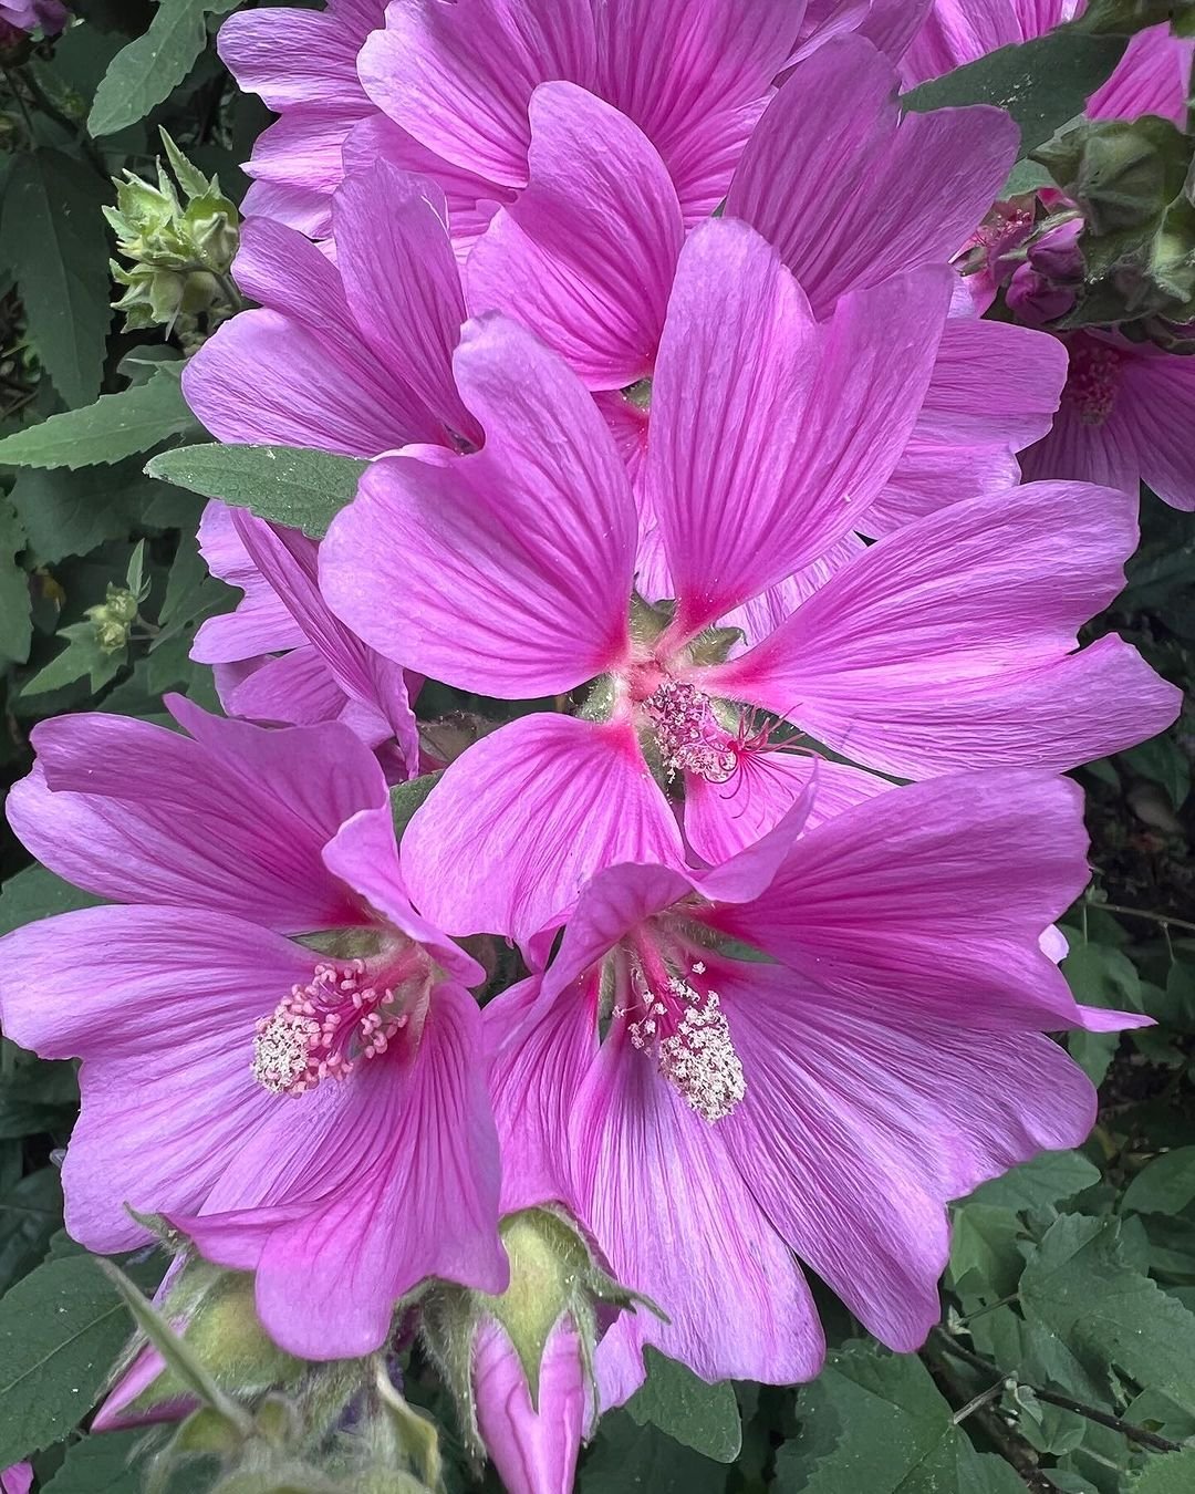
<path id="1" fill-rule="evenodd" d="M 565 1201 L 669 1318 L 605 1336 L 606 1406 L 644 1343 L 710 1380 L 816 1374 L 793 1255 L 916 1349 L 946 1203 L 1095 1119 L 1043 1034 L 1149 1020 L 1076 1005 L 1041 950 L 1087 880 L 1074 784 L 1004 769 L 802 813 L 714 872 L 599 874 L 547 974 L 485 1010 L 503 1207 Z"/>

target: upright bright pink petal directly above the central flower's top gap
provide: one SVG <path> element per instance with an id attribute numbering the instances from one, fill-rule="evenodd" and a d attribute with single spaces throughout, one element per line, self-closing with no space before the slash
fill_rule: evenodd
<path id="1" fill-rule="evenodd" d="M 684 239 L 677 191 L 639 130 L 574 84 L 541 84 L 530 121 L 530 184 L 469 255 L 469 305 L 617 390 L 654 366 Z"/>

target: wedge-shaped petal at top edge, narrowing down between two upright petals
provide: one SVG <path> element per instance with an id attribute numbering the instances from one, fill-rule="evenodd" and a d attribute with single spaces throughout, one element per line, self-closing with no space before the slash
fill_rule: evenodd
<path id="1" fill-rule="evenodd" d="M 593 15 L 593 91 L 651 140 L 677 184 L 686 223 L 698 223 L 726 196 L 772 78 L 789 55 L 801 6 L 620 0 L 595 4 Z"/>

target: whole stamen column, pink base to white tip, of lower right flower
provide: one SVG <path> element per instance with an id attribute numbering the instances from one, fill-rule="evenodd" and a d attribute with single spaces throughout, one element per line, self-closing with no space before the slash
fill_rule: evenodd
<path id="1" fill-rule="evenodd" d="M 705 973 L 702 959 L 693 959 L 683 976 L 669 974 L 659 958 L 636 959 L 630 967 L 633 1002 L 615 1007 L 614 1016 L 627 1020 L 632 1046 L 654 1058 L 689 1109 L 713 1123 L 735 1110 L 747 1085 L 721 996 L 704 980 Z"/>

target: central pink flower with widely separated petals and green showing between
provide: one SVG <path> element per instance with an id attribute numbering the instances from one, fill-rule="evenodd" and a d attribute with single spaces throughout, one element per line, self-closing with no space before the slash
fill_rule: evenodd
<path id="1" fill-rule="evenodd" d="M 474 746 L 411 822 L 414 895 L 441 926 L 527 940 L 602 867 L 680 862 L 662 784 L 684 787 L 686 834 L 710 861 L 763 834 L 808 762 L 769 750 L 754 707 L 898 777 L 1065 768 L 1173 720 L 1177 692 L 1120 639 L 1073 651 L 1135 542 L 1135 505 L 1080 486 L 981 495 L 908 524 L 736 657 L 733 635 L 710 632 L 865 521 L 922 406 L 949 290 L 928 266 L 839 297 L 819 323 L 745 224 L 690 235 L 644 472 L 662 565 L 638 587 L 675 598 L 656 611 L 632 595 L 639 515 L 583 385 L 499 317 L 466 329 L 456 375 L 481 451 L 373 463 L 324 541 L 324 593 L 372 647 L 400 639 L 414 668 L 462 689 L 589 689 L 577 716 L 526 716 Z M 881 787 L 854 769 L 823 777 L 845 802 Z"/>

